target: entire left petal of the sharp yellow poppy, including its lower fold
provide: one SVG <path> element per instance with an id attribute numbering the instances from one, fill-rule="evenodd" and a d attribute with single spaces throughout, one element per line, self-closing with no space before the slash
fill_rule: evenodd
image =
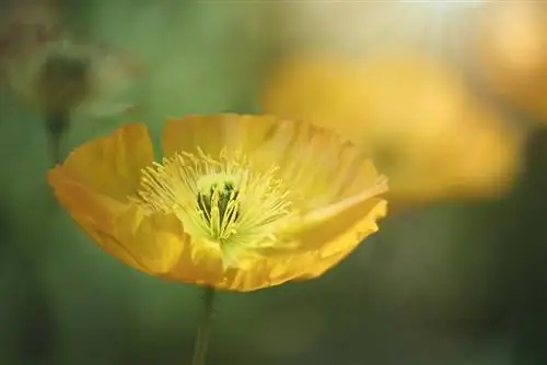
<path id="1" fill-rule="evenodd" d="M 77 149 L 48 173 L 48 181 L 60 204 L 100 246 L 156 274 L 178 259 L 184 232 L 174 216 L 146 215 L 127 199 L 152 160 L 147 127 L 131 123 Z"/>

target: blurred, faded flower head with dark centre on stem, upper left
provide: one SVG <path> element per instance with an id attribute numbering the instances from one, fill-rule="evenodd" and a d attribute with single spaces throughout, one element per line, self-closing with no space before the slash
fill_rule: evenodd
<path id="1" fill-rule="evenodd" d="M 7 71 L 11 90 L 44 116 L 54 158 L 60 161 L 61 138 L 75 113 L 101 117 L 135 108 L 128 103 L 113 107 L 109 99 L 140 75 L 133 63 L 105 47 L 62 38 L 15 54 Z"/>

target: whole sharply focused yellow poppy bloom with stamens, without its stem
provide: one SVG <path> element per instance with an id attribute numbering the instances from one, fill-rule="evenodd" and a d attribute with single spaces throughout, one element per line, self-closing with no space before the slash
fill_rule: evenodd
<path id="1" fill-rule="evenodd" d="M 386 180 L 337 134 L 267 116 L 168 120 L 88 142 L 48 174 L 101 247 L 146 273 L 231 291 L 311 279 L 377 229 Z"/>

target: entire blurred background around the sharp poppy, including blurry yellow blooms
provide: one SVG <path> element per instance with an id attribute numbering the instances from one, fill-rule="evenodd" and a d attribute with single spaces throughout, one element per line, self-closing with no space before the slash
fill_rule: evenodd
<path id="1" fill-rule="evenodd" d="M 380 232 L 323 278 L 220 295 L 208 364 L 547 364 L 540 1 L 0 4 L 1 365 L 188 364 L 199 315 L 200 289 L 125 267 L 53 199 L 46 95 L 81 82 L 40 78 L 54 54 L 90 64 L 65 154 L 127 121 L 269 113 L 391 178 Z"/>

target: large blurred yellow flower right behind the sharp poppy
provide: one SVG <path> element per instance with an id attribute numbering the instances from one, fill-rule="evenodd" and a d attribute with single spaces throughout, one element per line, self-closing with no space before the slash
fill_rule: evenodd
<path id="1" fill-rule="evenodd" d="M 398 200 L 496 196 L 519 166 L 520 133 L 423 57 L 290 59 L 268 80 L 263 107 L 336 129 L 386 172 Z"/>

